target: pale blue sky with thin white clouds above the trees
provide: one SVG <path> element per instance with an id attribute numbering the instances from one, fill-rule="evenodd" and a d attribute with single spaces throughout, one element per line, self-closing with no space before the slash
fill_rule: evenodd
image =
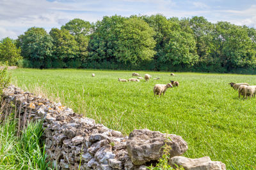
<path id="1" fill-rule="evenodd" d="M 16 39 L 30 27 L 50 31 L 69 20 L 89 22 L 104 16 L 204 16 L 209 22 L 227 21 L 256 28 L 256 0 L 0 0 L 0 39 Z"/>

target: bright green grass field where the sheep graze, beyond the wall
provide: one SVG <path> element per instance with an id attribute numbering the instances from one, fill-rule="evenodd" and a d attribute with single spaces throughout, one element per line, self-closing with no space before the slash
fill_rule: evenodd
<path id="1" fill-rule="evenodd" d="M 111 129 L 129 134 L 147 128 L 182 136 L 185 157 L 209 156 L 227 169 L 256 168 L 256 99 L 238 99 L 228 83 L 256 85 L 256 76 L 147 72 L 160 80 L 119 82 L 132 71 L 17 69 L 13 83 L 24 90 L 60 101 Z M 96 76 L 92 78 L 92 73 Z M 146 72 L 138 71 L 141 75 Z M 154 97 L 153 87 L 170 80 L 180 87 Z"/>

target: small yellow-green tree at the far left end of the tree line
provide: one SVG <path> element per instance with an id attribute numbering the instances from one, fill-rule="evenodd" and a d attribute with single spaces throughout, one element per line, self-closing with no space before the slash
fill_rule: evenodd
<path id="1" fill-rule="evenodd" d="M 8 37 L 0 41 L 0 61 L 8 62 L 10 66 L 17 65 L 20 56 L 20 48 L 17 48 L 14 41 Z"/>

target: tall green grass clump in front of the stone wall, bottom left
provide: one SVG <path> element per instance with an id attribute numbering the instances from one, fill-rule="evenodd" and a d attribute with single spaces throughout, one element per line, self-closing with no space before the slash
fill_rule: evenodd
<path id="1" fill-rule="evenodd" d="M 47 169 L 42 123 L 32 123 L 17 137 L 17 121 L 0 124 L 0 169 Z M 50 168 L 51 169 L 51 168 Z"/>

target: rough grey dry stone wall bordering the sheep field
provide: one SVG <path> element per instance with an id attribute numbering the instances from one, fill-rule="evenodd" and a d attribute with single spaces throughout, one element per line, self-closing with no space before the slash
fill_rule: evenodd
<path id="1" fill-rule="evenodd" d="M 0 120 L 13 112 L 19 118 L 18 133 L 28 122 L 44 122 L 46 153 L 58 169 L 147 169 L 150 162 L 163 156 L 164 145 L 172 148 L 169 152 L 172 157 L 188 150 L 186 141 L 175 134 L 139 129 L 123 136 L 121 132 L 96 124 L 92 118 L 82 117 L 60 103 L 14 86 L 4 89 L 1 107 L 4 114 Z M 170 160 L 170 164 L 173 161 Z M 177 159 L 174 162 L 179 163 Z M 184 161 L 180 162 L 189 167 Z M 225 169 L 225 164 L 216 164 Z"/>

